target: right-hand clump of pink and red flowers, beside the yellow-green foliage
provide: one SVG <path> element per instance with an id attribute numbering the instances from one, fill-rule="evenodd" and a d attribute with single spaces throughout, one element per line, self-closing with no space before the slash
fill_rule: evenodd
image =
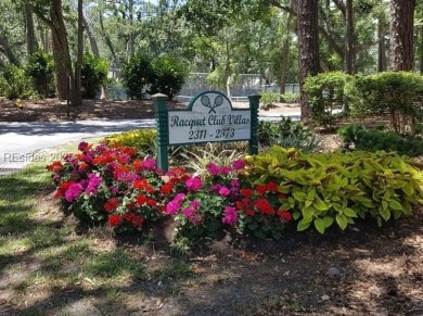
<path id="1" fill-rule="evenodd" d="M 281 238 L 283 224 L 292 219 L 290 212 L 279 208 L 285 195 L 278 193 L 274 182 L 253 187 L 246 181 L 245 167 L 243 160 L 231 166 L 209 163 L 204 178 L 181 169 L 169 172 L 169 182 L 179 187 L 165 212 L 178 222 L 180 236 L 210 236 L 232 227 L 259 238 Z"/>

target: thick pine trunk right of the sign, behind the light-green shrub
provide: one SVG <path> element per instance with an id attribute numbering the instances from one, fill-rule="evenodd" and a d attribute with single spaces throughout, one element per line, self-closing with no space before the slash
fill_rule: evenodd
<path id="1" fill-rule="evenodd" d="M 311 113 L 304 84 L 308 76 L 319 73 L 318 1 L 298 0 L 299 89 L 302 119 L 310 121 Z"/>

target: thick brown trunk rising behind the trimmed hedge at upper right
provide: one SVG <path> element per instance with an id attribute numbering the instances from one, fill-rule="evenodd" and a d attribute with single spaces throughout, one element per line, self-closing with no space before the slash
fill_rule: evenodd
<path id="1" fill-rule="evenodd" d="M 413 23 L 415 0 L 390 0 L 390 68 L 413 67 Z"/>

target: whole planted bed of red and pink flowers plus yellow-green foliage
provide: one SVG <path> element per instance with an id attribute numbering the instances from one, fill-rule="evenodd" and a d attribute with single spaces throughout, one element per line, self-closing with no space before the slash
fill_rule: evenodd
<path id="1" fill-rule="evenodd" d="M 266 153 L 208 163 L 202 176 L 182 168 L 164 174 L 133 148 L 81 142 L 79 152 L 47 168 L 64 211 L 117 232 L 142 230 L 171 216 L 178 236 L 215 236 L 223 229 L 280 239 L 285 224 L 323 233 L 370 215 L 410 214 L 423 201 L 423 175 L 394 153 L 305 154 L 274 147 Z"/>

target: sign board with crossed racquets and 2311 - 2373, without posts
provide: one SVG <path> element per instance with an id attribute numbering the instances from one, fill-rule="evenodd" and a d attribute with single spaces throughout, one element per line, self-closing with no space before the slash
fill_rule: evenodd
<path id="1" fill-rule="evenodd" d="M 169 111 L 168 127 L 169 144 L 249 140 L 252 117 L 249 110 L 232 110 L 223 94 L 206 92 L 189 110 Z"/>

